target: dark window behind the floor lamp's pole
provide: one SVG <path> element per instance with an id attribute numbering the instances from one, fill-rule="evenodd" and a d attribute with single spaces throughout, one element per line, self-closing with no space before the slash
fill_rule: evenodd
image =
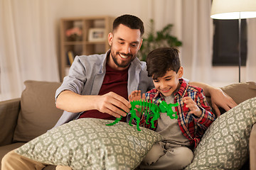
<path id="1" fill-rule="evenodd" d="M 213 66 L 238 66 L 238 20 L 213 19 Z M 247 25 L 241 20 L 241 65 L 247 59 Z"/>

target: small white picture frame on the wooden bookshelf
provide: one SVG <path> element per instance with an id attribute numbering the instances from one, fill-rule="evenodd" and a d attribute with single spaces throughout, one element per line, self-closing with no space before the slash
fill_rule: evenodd
<path id="1" fill-rule="evenodd" d="M 106 40 L 105 28 L 90 28 L 89 29 L 89 42 L 98 42 Z"/>

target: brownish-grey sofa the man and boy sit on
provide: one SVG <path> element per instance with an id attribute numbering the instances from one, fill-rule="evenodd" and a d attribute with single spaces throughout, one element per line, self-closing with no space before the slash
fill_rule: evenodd
<path id="1" fill-rule="evenodd" d="M 55 108 L 55 90 L 59 82 L 25 81 L 26 89 L 21 98 L 0 102 L 0 159 L 33 138 L 42 135 L 53 128 L 63 111 Z M 231 96 L 235 102 L 241 103 L 256 96 L 255 82 L 230 84 L 223 91 Z M 210 103 L 210 98 L 208 98 Z M 224 111 L 222 111 L 224 113 Z M 250 135 L 250 162 L 242 169 L 256 169 L 256 125 Z M 47 166 L 45 169 L 55 169 Z M 0 169 L 1 170 L 1 169 Z"/>

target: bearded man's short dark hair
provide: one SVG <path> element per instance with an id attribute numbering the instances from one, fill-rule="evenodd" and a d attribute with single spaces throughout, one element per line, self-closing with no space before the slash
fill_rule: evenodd
<path id="1" fill-rule="evenodd" d="M 143 22 L 137 16 L 132 16 L 132 15 L 129 15 L 129 14 L 125 14 L 123 16 L 119 16 L 119 17 L 115 18 L 114 22 L 113 22 L 112 32 L 114 32 L 114 30 L 116 30 L 117 27 L 120 24 L 122 24 L 124 26 L 127 26 L 127 27 L 129 27 L 131 29 L 139 29 L 140 33 L 141 33 L 141 37 L 144 34 Z"/>

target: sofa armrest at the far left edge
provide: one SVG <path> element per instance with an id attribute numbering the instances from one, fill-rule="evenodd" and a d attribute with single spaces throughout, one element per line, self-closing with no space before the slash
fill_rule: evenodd
<path id="1" fill-rule="evenodd" d="M 0 146 L 12 143 L 20 110 L 21 98 L 0 101 Z"/>

